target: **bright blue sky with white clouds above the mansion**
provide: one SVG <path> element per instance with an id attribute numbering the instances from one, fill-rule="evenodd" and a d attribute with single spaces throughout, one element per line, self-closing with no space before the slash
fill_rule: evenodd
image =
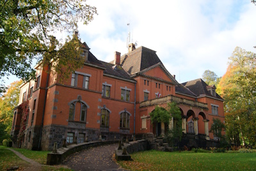
<path id="1" fill-rule="evenodd" d="M 178 82 L 202 78 L 205 70 L 222 77 L 236 47 L 256 52 L 256 6 L 250 0 L 87 0 L 97 8 L 79 36 L 101 61 L 128 52 L 127 37 L 156 51 Z M 127 25 L 129 24 L 129 26 Z M 56 34 L 57 38 L 67 36 Z M 18 80 L 10 77 L 6 84 Z"/>

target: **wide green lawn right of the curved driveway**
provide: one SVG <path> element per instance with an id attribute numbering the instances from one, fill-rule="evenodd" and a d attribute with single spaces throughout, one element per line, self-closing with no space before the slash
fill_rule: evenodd
<path id="1" fill-rule="evenodd" d="M 134 161 L 118 161 L 131 170 L 256 170 L 256 153 L 144 151 Z"/>

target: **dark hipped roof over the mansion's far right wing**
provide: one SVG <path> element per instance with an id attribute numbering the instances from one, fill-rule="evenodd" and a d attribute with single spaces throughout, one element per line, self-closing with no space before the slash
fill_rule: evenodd
<path id="1" fill-rule="evenodd" d="M 182 85 L 184 85 L 185 87 L 187 87 L 190 91 L 192 91 L 193 93 L 196 94 L 196 96 L 212 96 L 212 94 L 207 91 L 207 87 L 209 87 L 209 85 L 207 85 L 204 80 L 202 80 L 201 78 L 198 78 L 196 80 L 191 80 L 188 82 L 184 82 L 182 83 Z M 214 98 L 218 98 L 220 100 L 223 100 L 223 98 L 221 98 L 221 96 L 219 96 L 219 94 L 216 93 L 216 96 L 212 96 Z"/>

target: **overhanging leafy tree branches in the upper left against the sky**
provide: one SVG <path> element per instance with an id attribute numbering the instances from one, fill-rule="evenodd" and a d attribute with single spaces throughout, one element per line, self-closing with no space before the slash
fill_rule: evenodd
<path id="1" fill-rule="evenodd" d="M 10 74 L 24 80 L 35 77 L 35 70 L 31 68 L 32 61 L 42 61 L 43 57 L 44 61 L 40 63 L 42 66 L 57 61 L 58 64 L 52 66 L 53 70 L 61 70 L 63 73 L 66 73 L 67 67 L 76 70 L 79 66 L 74 64 L 77 61 L 72 56 L 76 59 L 80 55 L 77 50 L 80 43 L 67 44 L 70 41 L 67 38 L 64 44 L 54 40 L 52 46 L 51 35 L 56 31 L 70 33 L 77 28 L 77 22 L 88 24 L 93 20 L 97 10 L 85 2 L 0 1 L 0 79 L 3 81 L 3 77 Z"/>

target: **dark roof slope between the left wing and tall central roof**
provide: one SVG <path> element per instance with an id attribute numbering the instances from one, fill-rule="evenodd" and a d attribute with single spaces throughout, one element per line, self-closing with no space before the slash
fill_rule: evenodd
<path id="1" fill-rule="evenodd" d="M 105 66 L 105 70 L 103 73 L 108 75 L 113 75 L 115 77 L 119 78 L 125 78 L 128 80 L 134 80 L 130 77 L 129 73 L 127 73 L 121 66 L 111 64 L 111 63 L 105 63 L 104 61 L 100 61 Z"/>

